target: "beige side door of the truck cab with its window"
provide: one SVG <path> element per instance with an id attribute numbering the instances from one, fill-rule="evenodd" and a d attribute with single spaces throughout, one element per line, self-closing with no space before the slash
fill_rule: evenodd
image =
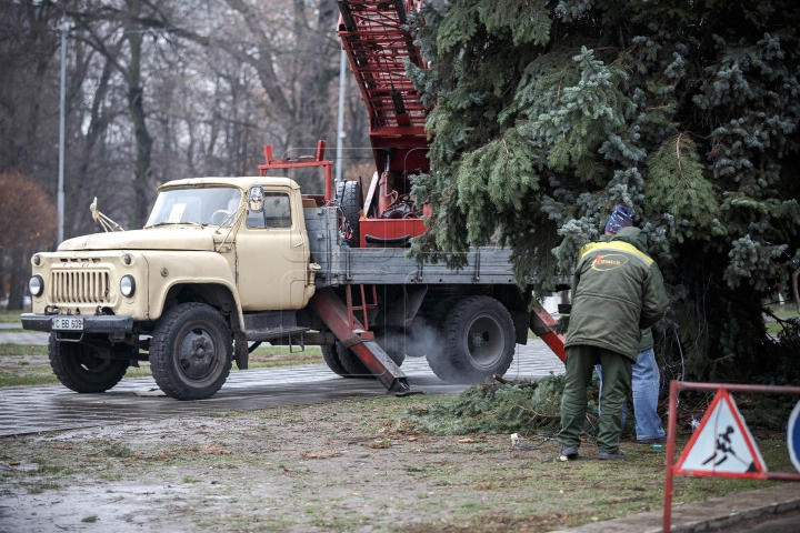
<path id="1" fill-rule="evenodd" d="M 264 187 L 263 209 L 248 212 L 237 234 L 239 298 L 244 311 L 301 309 L 309 252 L 302 210 L 289 191 Z"/>

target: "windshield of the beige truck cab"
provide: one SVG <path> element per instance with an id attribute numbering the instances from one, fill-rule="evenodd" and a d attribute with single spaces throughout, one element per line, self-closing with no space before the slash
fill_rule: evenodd
<path id="1" fill-rule="evenodd" d="M 144 228 L 163 224 L 230 225 L 242 192 L 233 187 L 168 189 L 159 193 Z M 227 219 L 227 220 L 226 220 Z"/>

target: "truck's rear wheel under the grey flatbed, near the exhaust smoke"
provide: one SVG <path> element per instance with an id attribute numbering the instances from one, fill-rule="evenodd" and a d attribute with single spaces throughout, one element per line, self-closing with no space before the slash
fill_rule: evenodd
<path id="1" fill-rule="evenodd" d="M 516 348 L 513 321 L 508 310 L 489 296 L 458 302 L 441 325 L 443 348 L 428 355 L 433 373 L 450 383 L 480 383 L 502 375 Z"/>

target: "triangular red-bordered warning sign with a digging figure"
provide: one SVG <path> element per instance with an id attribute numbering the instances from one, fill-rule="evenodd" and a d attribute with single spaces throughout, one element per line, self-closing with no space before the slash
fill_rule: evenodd
<path id="1" fill-rule="evenodd" d="M 677 474 L 764 479 L 767 465 L 739 409 L 720 389 L 676 463 Z"/>

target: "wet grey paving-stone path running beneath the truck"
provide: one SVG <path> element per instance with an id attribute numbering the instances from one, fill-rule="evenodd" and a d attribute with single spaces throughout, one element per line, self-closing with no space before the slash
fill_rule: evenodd
<path id="1" fill-rule="evenodd" d="M 538 339 L 517 349 L 507 379 L 538 379 L 564 371 L 561 361 Z M 466 389 L 439 380 L 424 358 L 407 359 L 402 370 L 414 391 L 457 393 Z M 122 380 L 101 394 L 78 394 L 61 384 L 11 386 L 0 390 L 0 436 L 386 394 L 374 380 L 339 378 L 324 364 L 233 371 L 217 394 L 189 402 L 163 395 L 152 378 Z"/>

